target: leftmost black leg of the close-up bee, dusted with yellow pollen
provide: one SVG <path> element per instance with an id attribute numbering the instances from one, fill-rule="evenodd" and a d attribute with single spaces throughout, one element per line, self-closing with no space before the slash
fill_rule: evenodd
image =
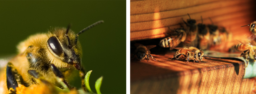
<path id="1" fill-rule="evenodd" d="M 22 84 L 25 87 L 29 86 L 29 84 L 23 80 L 22 76 L 18 74 L 12 63 L 8 63 L 6 66 L 6 83 L 7 89 L 11 93 L 16 92 L 16 87 L 18 87 L 18 84 Z"/>

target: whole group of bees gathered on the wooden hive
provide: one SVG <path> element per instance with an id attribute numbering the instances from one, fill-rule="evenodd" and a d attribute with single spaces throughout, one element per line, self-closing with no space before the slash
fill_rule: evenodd
<path id="1" fill-rule="evenodd" d="M 212 22 L 211 19 L 210 21 Z M 256 21 L 248 24 L 248 26 L 250 26 L 250 31 L 253 33 L 251 35 L 251 37 L 253 37 L 252 39 L 256 37 L 255 24 Z M 172 60 L 187 60 L 187 63 L 189 60 L 193 60 L 193 63 L 196 61 L 200 63 L 203 57 L 208 57 L 204 55 L 203 50 L 209 49 L 210 46 L 224 45 L 223 43 L 231 40 L 232 34 L 226 31 L 224 27 L 218 27 L 217 25 L 214 25 L 213 22 L 208 25 L 203 24 L 203 19 L 202 23 L 196 24 L 196 20 L 190 18 L 187 19 L 187 22 L 183 20 L 183 24 L 180 25 L 181 28 L 175 30 L 169 28 L 172 32 L 164 34 L 170 36 L 159 42 L 160 47 L 170 47 L 170 50 L 178 49 Z M 241 56 L 247 60 L 247 66 L 249 59 L 256 60 L 256 46 L 252 45 L 252 42 L 239 42 L 239 44 L 231 47 L 230 51 L 236 50 L 242 52 Z M 147 61 L 150 61 L 149 57 L 151 57 L 156 61 L 149 51 L 149 49 L 156 47 L 156 45 L 144 46 L 136 43 L 135 46 L 137 49 L 134 51 L 132 59 L 136 56 L 135 60 L 146 59 Z"/>

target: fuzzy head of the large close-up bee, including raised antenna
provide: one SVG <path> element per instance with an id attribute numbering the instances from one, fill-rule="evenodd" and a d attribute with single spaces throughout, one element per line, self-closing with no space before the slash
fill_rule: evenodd
<path id="1" fill-rule="evenodd" d="M 65 64 L 58 62 L 54 65 L 56 65 L 57 67 L 65 68 L 72 68 L 73 66 L 75 69 L 80 70 L 82 49 L 78 41 L 78 35 L 100 23 L 103 23 L 103 20 L 90 25 L 76 35 L 73 31 L 69 31 L 70 25 L 68 25 L 67 29 L 55 29 L 53 34 L 50 35 L 47 41 L 47 47 L 49 49 L 49 52 L 55 58 L 64 62 Z M 55 63 L 58 60 L 52 59 L 51 61 Z"/>

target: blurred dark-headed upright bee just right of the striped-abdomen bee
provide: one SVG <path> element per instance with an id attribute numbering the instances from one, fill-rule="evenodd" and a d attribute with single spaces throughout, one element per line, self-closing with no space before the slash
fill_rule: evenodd
<path id="1" fill-rule="evenodd" d="M 188 14 L 188 17 L 190 18 L 190 15 Z M 182 19 L 183 20 L 183 19 Z M 185 23 L 185 29 L 187 31 L 186 40 L 183 42 L 183 47 L 190 47 L 190 46 L 197 46 L 197 31 L 198 27 L 196 25 L 195 19 L 187 19 L 187 22 L 183 20 Z"/>

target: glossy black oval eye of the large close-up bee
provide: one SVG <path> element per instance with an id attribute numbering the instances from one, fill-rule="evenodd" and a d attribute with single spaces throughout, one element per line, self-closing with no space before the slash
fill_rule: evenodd
<path id="1" fill-rule="evenodd" d="M 55 36 L 52 36 L 48 39 L 48 45 L 56 55 L 62 54 L 62 47 L 60 46 L 60 43 Z"/>

